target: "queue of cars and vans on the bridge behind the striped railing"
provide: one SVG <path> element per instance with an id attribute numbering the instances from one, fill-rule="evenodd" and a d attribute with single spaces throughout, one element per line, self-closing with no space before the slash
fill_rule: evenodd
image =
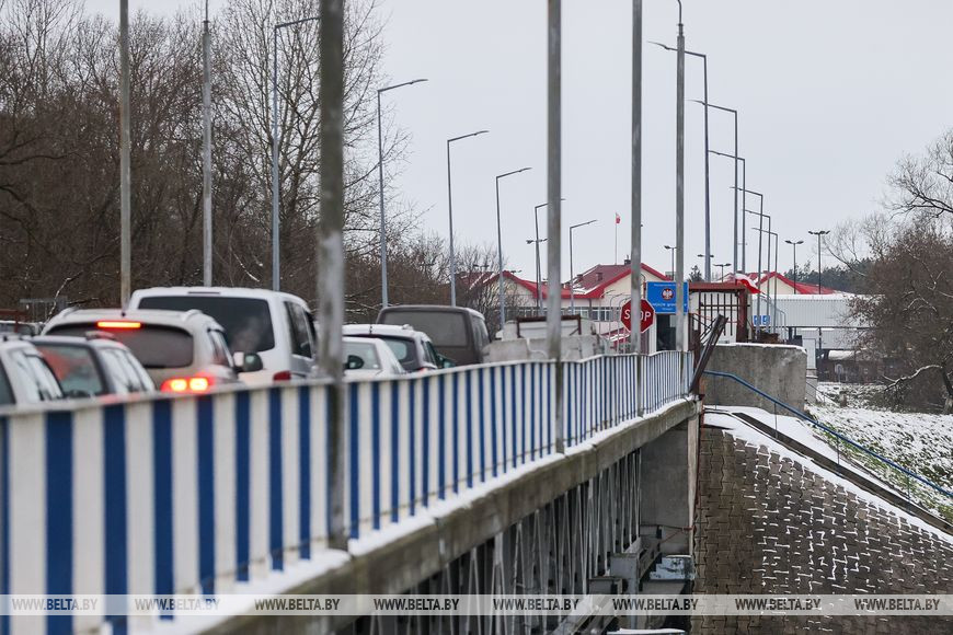
<path id="1" fill-rule="evenodd" d="M 0 406 L 202 394 L 317 377 L 315 324 L 290 293 L 227 287 L 135 291 L 129 308 L 67 309 L 0 335 Z M 37 333 L 39 333 L 37 335 Z M 489 336 L 471 309 L 383 309 L 344 327 L 344 374 L 379 379 L 480 363 Z"/>

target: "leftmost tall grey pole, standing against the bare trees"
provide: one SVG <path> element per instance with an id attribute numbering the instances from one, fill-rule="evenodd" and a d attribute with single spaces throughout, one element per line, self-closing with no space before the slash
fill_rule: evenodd
<path id="1" fill-rule="evenodd" d="M 129 138 L 129 0 L 119 0 L 119 302 L 124 309 L 133 291 Z"/>

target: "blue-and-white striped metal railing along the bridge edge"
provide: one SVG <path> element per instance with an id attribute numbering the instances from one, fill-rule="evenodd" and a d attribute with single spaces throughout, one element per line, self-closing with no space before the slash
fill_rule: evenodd
<path id="1" fill-rule="evenodd" d="M 563 369 L 572 447 L 686 396 L 691 362 Z M 527 361 L 347 382 L 349 535 L 552 454 L 555 377 L 555 362 Z M 215 593 L 310 559 L 329 536 L 328 393 L 303 382 L 0 414 L 0 596 Z"/>

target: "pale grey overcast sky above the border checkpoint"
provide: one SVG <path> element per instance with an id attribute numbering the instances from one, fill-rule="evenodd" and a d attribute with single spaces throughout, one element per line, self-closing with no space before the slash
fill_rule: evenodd
<path id="1" fill-rule="evenodd" d="M 134 10 L 170 11 L 176 0 L 131 0 Z M 213 1 L 213 10 L 222 2 Z M 575 269 L 629 253 L 631 4 L 563 1 L 563 228 L 576 230 Z M 645 0 L 644 37 L 675 44 L 677 3 Z M 118 0 L 88 7 L 117 16 Z M 395 186 L 447 232 L 446 139 L 487 128 L 453 147 L 459 239 L 495 245 L 494 176 L 502 182 L 503 252 L 535 275 L 532 208 L 546 200 L 544 0 L 381 0 L 387 73 L 428 78 L 386 95 L 412 135 Z M 710 101 L 737 108 L 739 153 L 749 189 L 766 195 L 781 241 L 876 209 L 886 174 L 951 125 L 953 3 L 935 0 L 685 0 L 687 48 L 709 56 Z M 688 58 L 686 96 L 701 99 L 700 60 Z M 675 240 L 675 54 L 644 50 L 643 259 L 668 269 Z M 731 152 L 730 115 L 712 111 L 712 149 Z M 686 270 L 701 264 L 704 219 L 703 108 L 686 104 Z M 732 261 L 732 161 L 712 158 L 714 263 Z M 748 200 L 749 207 L 754 200 Z M 748 217 L 750 219 L 750 217 Z M 540 223 L 544 228 L 542 216 Z M 748 221 L 750 228 L 751 221 Z M 544 233 L 544 229 L 541 230 Z M 563 272 L 569 276 L 567 240 Z M 757 235 L 748 231 L 748 269 Z M 816 262 L 808 241 L 799 261 Z M 544 245 L 543 245 L 544 246 Z M 791 266 L 782 243 L 780 268 Z M 546 266 L 546 265 L 543 265 Z"/>

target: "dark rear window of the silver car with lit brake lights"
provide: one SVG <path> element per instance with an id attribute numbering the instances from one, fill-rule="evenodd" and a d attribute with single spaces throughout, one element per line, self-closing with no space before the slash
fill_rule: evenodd
<path id="1" fill-rule="evenodd" d="M 51 328 L 50 335 L 72 335 L 85 337 L 96 331 L 95 324 L 69 324 Z M 101 330 L 102 331 L 102 330 Z M 129 347 L 146 368 L 183 368 L 192 366 L 194 344 L 192 335 L 181 328 L 150 326 L 141 328 L 106 330 L 117 340 Z"/>

